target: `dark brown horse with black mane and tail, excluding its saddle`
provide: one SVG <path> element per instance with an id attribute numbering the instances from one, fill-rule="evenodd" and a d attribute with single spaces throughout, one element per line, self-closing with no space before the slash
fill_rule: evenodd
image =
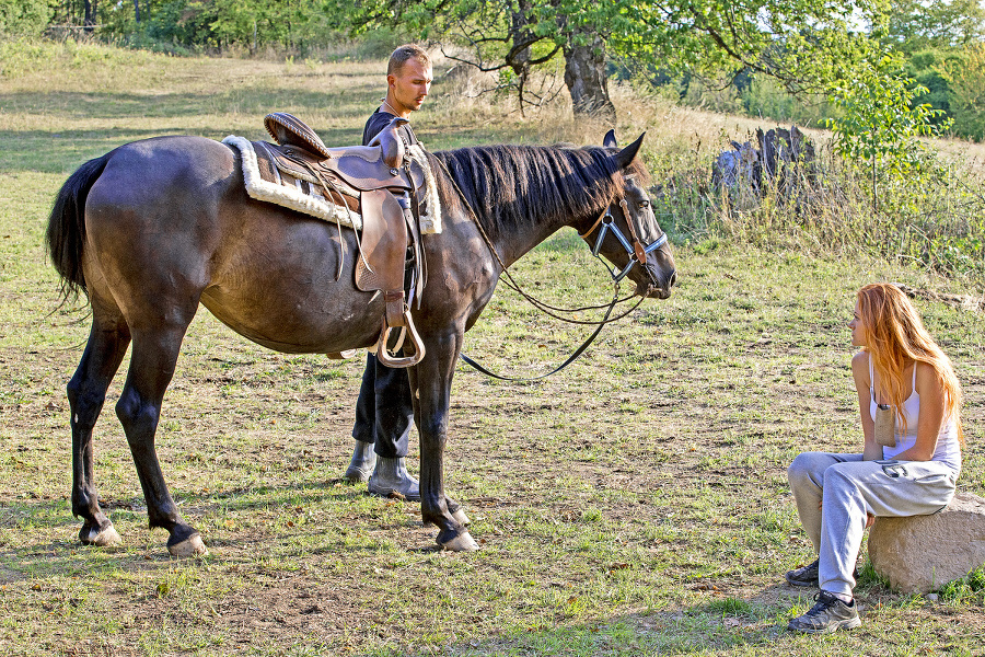
<path id="1" fill-rule="evenodd" d="M 420 435 L 421 515 L 438 543 L 474 550 L 465 516 L 444 493 L 443 451 L 450 391 L 465 332 L 493 297 L 501 274 L 552 233 L 570 226 L 594 244 L 596 219 L 649 244 L 629 269 L 637 293 L 664 299 L 674 285 L 669 245 L 640 185 L 642 136 L 606 146 L 494 146 L 431 158 L 443 231 L 424 237 L 429 270 L 414 321 L 427 356 L 410 369 Z M 622 205 L 621 205 L 622 201 Z M 614 220 L 612 219 L 614 217 Z M 631 222 L 627 227 L 626 220 Z M 490 253 L 478 220 L 499 260 Z M 609 230 L 601 254 L 619 268 L 631 250 Z M 336 280 L 346 242 L 343 276 Z M 111 380 L 132 343 L 116 414 L 147 500 L 151 527 L 170 532 L 175 555 L 206 551 L 178 514 L 158 462 L 154 435 L 185 331 L 199 303 L 241 335 L 293 354 L 337 353 L 375 343 L 383 300 L 356 289 L 356 235 L 251 199 L 239 154 L 198 137 L 161 137 L 121 146 L 79 168 L 55 201 L 48 247 L 63 292 L 84 291 L 92 331 L 68 384 L 72 428 L 72 512 L 83 543 L 119 541 L 100 509 L 92 430 Z"/>

